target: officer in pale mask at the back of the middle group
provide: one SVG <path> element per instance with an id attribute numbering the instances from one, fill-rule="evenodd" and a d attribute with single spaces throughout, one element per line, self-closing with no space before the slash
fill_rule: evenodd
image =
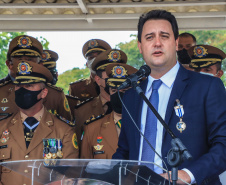
<path id="1" fill-rule="evenodd" d="M 82 100 L 97 97 L 99 95 L 99 87 L 94 80 L 95 71 L 92 70 L 91 65 L 101 52 L 108 49 L 111 49 L 111 46 L 101 39 L 91 39 L 83 45 L 82 53 L 87 60 L 86 66 L 90 70 L 90 77 L 71 83 L 69 86 L 70 95 L 76 96 Z"/>

